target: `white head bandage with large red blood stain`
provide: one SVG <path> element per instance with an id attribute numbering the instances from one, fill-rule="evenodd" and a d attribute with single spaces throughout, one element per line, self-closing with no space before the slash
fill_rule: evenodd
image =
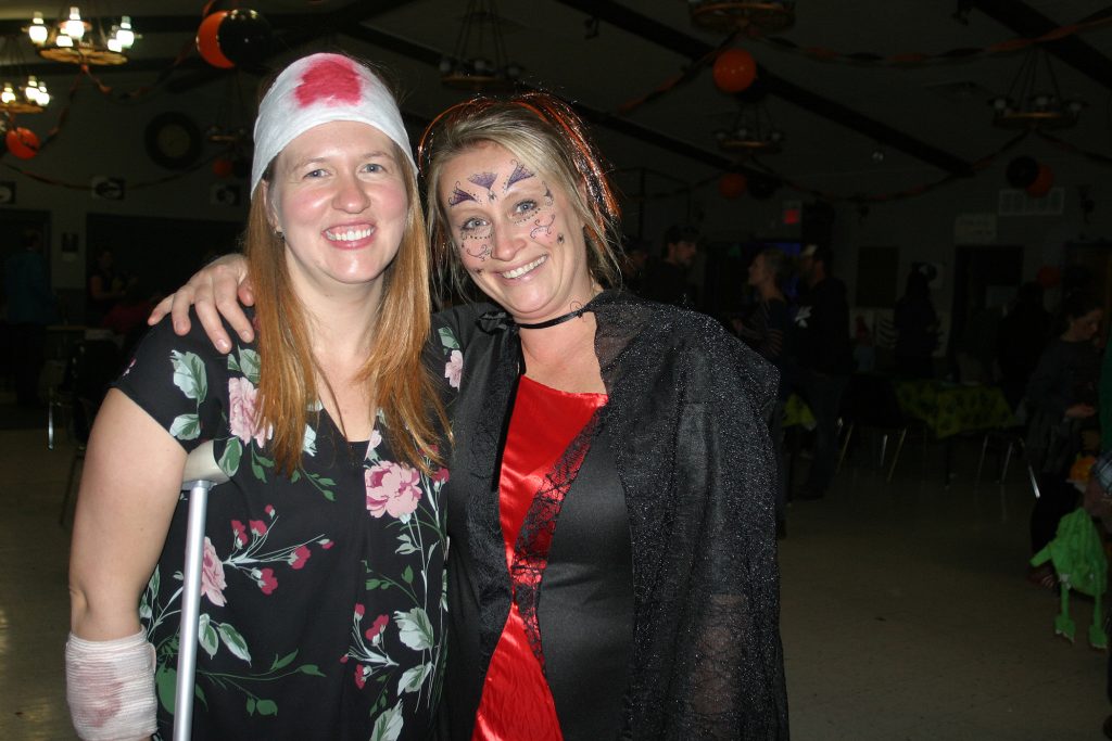
<path id="1" fill-rule="evenodd" d="M 251 194 L 270 161 L 301 133 L 329 121 L 359 121 L 394 140 L 416 172 L 401 113 L 377 74 L 342 54 L 304 57 L 275 80 L 255 120 Z"/>

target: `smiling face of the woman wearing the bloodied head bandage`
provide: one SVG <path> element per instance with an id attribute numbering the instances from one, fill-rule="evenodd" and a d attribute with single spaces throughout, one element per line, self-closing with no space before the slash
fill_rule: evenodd
<path id="1" fill-rule="evenodd" d="M 355 121 L 322 123 L 286 146 L 264 197 L 296 287 L 328 296 L 380 287 L 405 233 L 405 167 L 386 134 Z"/>

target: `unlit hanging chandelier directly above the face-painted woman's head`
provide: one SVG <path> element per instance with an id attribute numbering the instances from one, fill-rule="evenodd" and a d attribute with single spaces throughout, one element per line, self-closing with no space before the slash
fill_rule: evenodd
<path id="1" fill-rule="evenodd" d="M 440 60 L 440 82 L 470 92 L 507 90 L 522 74 L 508 59 L 494 0 L 468 0 L 451 57 Z"/>

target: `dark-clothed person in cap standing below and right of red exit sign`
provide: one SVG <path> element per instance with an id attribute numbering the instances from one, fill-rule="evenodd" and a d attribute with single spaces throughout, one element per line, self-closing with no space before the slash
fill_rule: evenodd
<path id="1" fill-rule="evenodd" d="M 800 253 L 801 291 L 791 346 L 798 371 L 797 390 L 815 415 L 815 445 L 807 480 L 795 499 L 821 499 L 834 478 L 837 417 L 842 392 L 853 372 L 850 304 L 845 283 L 831 274 L 828 247 L 807 244 Z"/>

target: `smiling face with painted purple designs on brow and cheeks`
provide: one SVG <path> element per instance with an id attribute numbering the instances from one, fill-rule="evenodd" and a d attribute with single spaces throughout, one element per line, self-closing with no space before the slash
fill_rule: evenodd
<path id="1" fill-rule="evenodd" d="M 437 194 L 464 268 L 516 321 L 559 317 L 596 292 L 583 221 L 504 147 L 484 142 L 447 161 Z"/>

